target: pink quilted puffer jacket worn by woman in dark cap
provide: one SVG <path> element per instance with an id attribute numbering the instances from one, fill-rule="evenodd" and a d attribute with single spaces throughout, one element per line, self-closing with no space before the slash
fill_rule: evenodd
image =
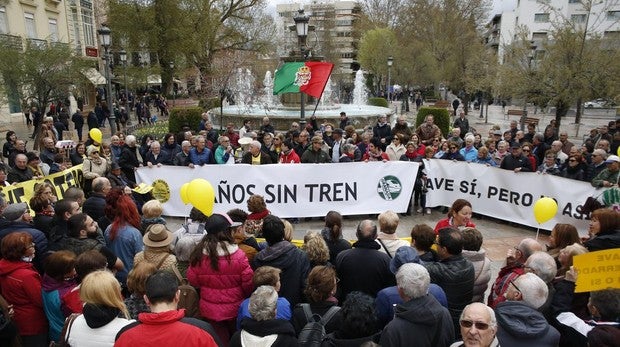
<path id="1" fill-rule="evenodd" d="M 228 243 L 227 251 L 229 256 L 218 244 L 218 270 L 211 267 L 206 250 L 200 263 L 187 269 L 189 284 L 200 290 L 200 314 L 216 322 L 236 318 L 239 305 L 254 290 L 254 271 L 245 253 Z"/>

